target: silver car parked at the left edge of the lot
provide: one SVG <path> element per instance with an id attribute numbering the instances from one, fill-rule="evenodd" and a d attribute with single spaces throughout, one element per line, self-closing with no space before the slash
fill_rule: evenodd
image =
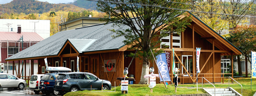
<path id="1" fill-rule="evenodd" d="M 19 88 L 23 89 L 27 82 L 12 74 L 0 73 L 0 88 Z"/>

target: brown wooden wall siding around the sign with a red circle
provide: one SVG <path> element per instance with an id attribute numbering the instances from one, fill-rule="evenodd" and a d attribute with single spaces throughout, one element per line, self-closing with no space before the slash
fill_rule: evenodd
<path id="1" fill-rule="evenodd" d="M 124 76 L 124 52 L 108 52 L 100 54 L 100 66 L 104 67 L 104 60 L 112 60 L 116 59 L 116 72 L 104 72 L 104 69 L 101 68 L 100 72 L 103 74 L 104 80 L 108 80 L 111 82 L 112 86 L 114 86 L 114 82 L 116 81 L 116 86 L 119 85 L 120 81 L 116 80 L 117 77 Z M 119 58 L 119 59 L 118 59 Z"/>

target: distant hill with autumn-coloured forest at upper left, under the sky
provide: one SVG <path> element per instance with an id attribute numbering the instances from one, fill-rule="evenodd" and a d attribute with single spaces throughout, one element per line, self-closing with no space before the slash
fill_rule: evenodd
<path id="1" fill-rule="evenodd" d="M 0 9 L 2 11 L 4 8 L 4 12 L 10 13 L 45 13 L 49 11 L 59 11 L 59 10 L 66 10 L 66 11 L 77 11 L 81 12 L 81 10 L 86 10 L 84 8 L 77 7 L 71 4 L 51 4 L 49 2 L 41 2 L 35 0 L 13 0 L 7 4 L 0 4 Z"/>

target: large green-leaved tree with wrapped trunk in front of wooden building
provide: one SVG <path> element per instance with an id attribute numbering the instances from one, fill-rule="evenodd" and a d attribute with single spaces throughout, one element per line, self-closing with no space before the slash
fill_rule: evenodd
<path id="1" fill-rule="evenodd" d="M 124 36 L 124 43 L 130 45 L 129 49 L 138 49 L 139 58 L 143 60 L 142 73 L 139 84 L 148 84 L 148 78 L 144 75 L 149 73 L 149 61 L 153 60 L 150 50 L 156 51 L 156 44 L 160 43 L 162 37 L 174 32 L 184 32 L 190 23 L 190 18 L 179 18 L 184 11 L 174 9 L 188 9 L 189 0 L 99 0 L 97 9 L 105 12 L 110 18 L 105 18 L 107 22 L 114 22 L 114 27 L 122 30 L 109 29 L 116 32 L 116 36 Z M 168 9 L 171 8 L 171 9 Z M 180 20 L 181 19 L 181 20 Z M 123 29 L 122 25 L 129 27 Z M 157 35 L 157 33 L 162 34 Z M 153 41 L 153 38 L 157 41 Z M 159 37 L 159 38 L 158 38 Z M 155 55 L 156 55 L 155 54 Z"/>

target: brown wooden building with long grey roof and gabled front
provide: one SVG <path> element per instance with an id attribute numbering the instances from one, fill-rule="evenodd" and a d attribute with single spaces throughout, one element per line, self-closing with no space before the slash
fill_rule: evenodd
<path id="1" fill-rule="evenodd" d="M 172 49 L 174 49 L 175 63 L 181 70 L 179 83 L 196 82 L 196 60 L 193 59 L 195 58 L 196 47 L 201 48 L 201 72 L 198 74 L 198 82 L 202 82 L 201 77 L 207 78 L 210 82 L 221 82 L 221 55 L 238 55 L 241 54 L 241 51 L 200 19 L 187 12 L 186 16 L 190 15 L 192 22 L 190 22 L 191 25 L 186 28 L 185 32 L 182 32 L 181 35 L 173 34 L 162 38 L 166 40 L 162 43 L 170 46 L 170 49 L 165 49 L 165 51 L 172 53 Z M 185 16 L 182 15 L 182 17 Z M 126 28 L 129 27 L 122 26 L 122 29 Z M 79 57 L 80 71 L 93 73 L 100 79 L 111 81 L 112 85 L 116 81 L 117 85 L 120 81 L 116 78 L 123 76 L 124 68 L 129 66 L 132 59 L 127 55 L 131 52 L 135 53 L 135 50 L 127 50 L 129 46 L 122 43 L 125 38 L 122 36 L 112 38 L 111 36 L 116 34 L 107 29 L 118 30 L 119 28 L 112 27 L 112 23 L 108 23 L 58 32 L 35 46 L 31 46 L 30 49 L 25 49 L 7 58 L 6 61 L 38 60 L 38 74 L 43 74 L 45 72 L 44 58 L 47 58 L 48 66 L 63 66 L 71 68 L 72 71 L 77 71 L 75 66 L 77 57 Z M 109 66 L 105 65 L 105 60 L 116 62 L 113 66 L 115 71 L 106 72 L 106 67 Z M 150 67 L 152 67 L 153 63 L 150 64 Z M 192 74 L 187 75 L 188 70 Z M 132 62 L 128 74 L 128 76 L 130 74 L 134 75 L 135 84 L 140 81 L 141 71 L 142 60 L 136 58 Z M 158 74 L 158 72 L 155 72 L 155 74 Z M 170 72 L 171 79 L 173 79 L 172 75 L 172 72 Z M 156 81 L 159 81 L 159 78 Z"/>

